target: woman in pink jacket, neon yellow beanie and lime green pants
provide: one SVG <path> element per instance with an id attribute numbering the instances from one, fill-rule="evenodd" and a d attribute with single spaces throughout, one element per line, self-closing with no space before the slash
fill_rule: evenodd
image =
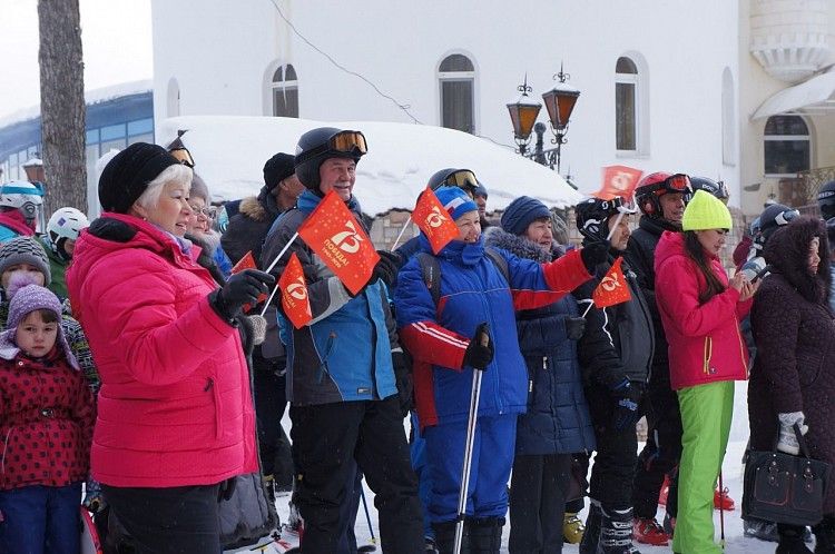
<path id="1" fill-rule="evenodd" d="M 719 251 L 731 218 L 720 200 L 696 191 L 681 226 L 682 234 L 661 236 L 655 258 L 656 300 L 684 427 L 672 551 L 718 554 L 714 487 L 730 433 L 734 382 L 747 378 L 739 320 L 750 309 L 757 285 L 741 274 L 728 280 Z"/>

